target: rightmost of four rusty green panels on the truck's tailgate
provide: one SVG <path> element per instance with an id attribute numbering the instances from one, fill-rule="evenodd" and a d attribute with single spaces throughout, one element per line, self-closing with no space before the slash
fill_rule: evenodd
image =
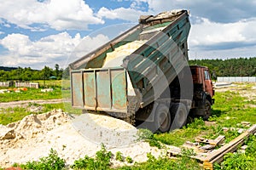
<path id="1" fill-rule="evenodd" d="M 125 70 L 112 70 L 111 80 L 113 108 L 118 110 L 126 110 L 127 90 Z"/>

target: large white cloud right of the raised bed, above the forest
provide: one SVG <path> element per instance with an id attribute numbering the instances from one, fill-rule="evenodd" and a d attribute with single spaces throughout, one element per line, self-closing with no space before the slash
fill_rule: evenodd
<path id="1" fill-rule="evenodd" d="M 256 18 L 227 24 L 202 19 L 191 26 L 190 59 L 255 57 L 255 26 Z"/>

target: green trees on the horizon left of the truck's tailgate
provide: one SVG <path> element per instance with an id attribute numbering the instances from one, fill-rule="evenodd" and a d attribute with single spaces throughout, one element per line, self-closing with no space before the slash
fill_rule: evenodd
<path id="1" fill-rule="evenodd" d="M 60 68 L 58 64 L 55 64 L 55 69 L 44 66 L 42 70 L 33 70 L 30 67 L 25 68 L 0 68 L 0 82 L 5 81 L 34 81 L 34 80 L 49 80 L 57 79 L 61 80 L 64 72 L 68 72 Z M 67 75 L 68 77 L 68 75 Z"/>

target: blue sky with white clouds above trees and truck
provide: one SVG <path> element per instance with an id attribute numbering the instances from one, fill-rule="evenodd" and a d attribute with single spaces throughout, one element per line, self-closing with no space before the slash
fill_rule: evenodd
<path id="1" fill-rule="evenodd" d="M 140 15 L 177 8 L 190 11 L 190 59 L 256 57 L 256 0 L 2 0 L 0 65 L 63 68 Z"/>

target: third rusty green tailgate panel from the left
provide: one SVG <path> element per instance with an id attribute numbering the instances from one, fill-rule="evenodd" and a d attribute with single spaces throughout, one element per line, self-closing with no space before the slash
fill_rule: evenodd
<path id="1" fill-rule="evenodd" d="M 108 70 L 96 71 L 97 107 L 111 109 L 110 72 Z"/>

